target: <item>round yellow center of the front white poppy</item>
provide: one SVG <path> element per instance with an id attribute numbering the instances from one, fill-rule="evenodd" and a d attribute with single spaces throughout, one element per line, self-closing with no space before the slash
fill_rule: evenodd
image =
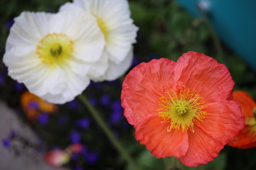
<path id="1" fill-rule="evenodd" d="M 61 33 L 48 34 L 42 38 L 36 48 L 36 54 L 44 64 L 62 64 L 72 57 L 73 41 Z"/>

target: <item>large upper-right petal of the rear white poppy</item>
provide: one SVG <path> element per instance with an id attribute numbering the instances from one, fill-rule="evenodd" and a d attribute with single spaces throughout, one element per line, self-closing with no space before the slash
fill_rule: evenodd
<path id="1" fill-rule="evenodd" d="M 73 4 L 102 19 L 107 28 L 107 55 L 112 62 L 121 63 L 136 42 L 138 30 L 130 18 L 127 0 L 75 0 Z"/>

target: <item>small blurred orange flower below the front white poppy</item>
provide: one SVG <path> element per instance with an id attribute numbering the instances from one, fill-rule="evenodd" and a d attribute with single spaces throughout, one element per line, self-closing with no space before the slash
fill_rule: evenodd
<path id="1" fill-rule="evenodd" d="M 40 113 L 53 113 L 57 106 L 44 101 L 42 98 L 25 91 L 21 94 L 21 107 L 31 120 L 38 118 Z"/>

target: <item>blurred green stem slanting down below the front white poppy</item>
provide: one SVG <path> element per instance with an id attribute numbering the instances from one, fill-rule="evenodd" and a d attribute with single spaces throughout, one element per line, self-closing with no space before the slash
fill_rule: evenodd
<path id="1" fill-rule="evenodd" d="M 135 166 L 132 157 L 129 156 L 129 154 L 126 151 L 126 149 L 124 149 L 124 147 L 122 147 L 121 143 L 114 137 L 114 135 L 112 134 L 110 128 L 107 127 L 107 125 L 104 123 L 104 120 L 102 119 L 100 114 L 90 104 L 88 99 L 85 96 L 83 96 L 82 94 L 80 96 L 78 96 L 78 98 L 80 99 L 80 101 L 82 101 L 82 103 L 85 104 L 85 106 L 87 106 L 87 108 L 90 111 L 90 113 L 92 114 L 93 118 L 95 118 L 97 124 L 100 125 L 100 128 L 102 128 L 102 130 L 105 132 L 105 135 L 107 135 L 107 137 L 112 142 L 114 147 L 117 149 L 119 154 L 121 154 L 122 157 L 127 161 L 127 163 L 130 164 L 130 166 L 132 166 L 132 169 L 138 169 L 137 166 Z"/>

